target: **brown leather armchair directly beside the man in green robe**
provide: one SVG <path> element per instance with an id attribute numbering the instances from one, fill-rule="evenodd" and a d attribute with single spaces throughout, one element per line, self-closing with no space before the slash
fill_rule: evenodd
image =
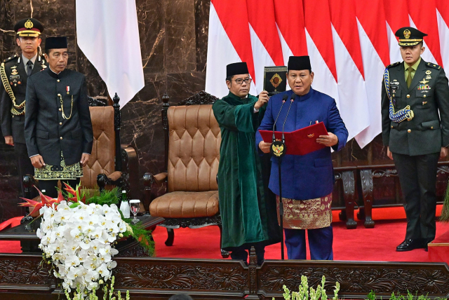
<path id="1" fill-rule="evenodd" d="M 180 227 L 217 225 L 221 237 L 217 186 L 221 132 L 211 105 L 217 98 L 200 92 L 176 107 L 170 107 L 167 95 L 162 100 L 166 172 L 145 173 L 145 206 L 153 217 L 165 219 L 158 226 L 167 229 L 167 246 L 173 245 L 173 229 Z M 153 184 L 165 184 L 164 194 L 154 200 Z M 222 257 L 229 253 L 222 250 Z"/>

